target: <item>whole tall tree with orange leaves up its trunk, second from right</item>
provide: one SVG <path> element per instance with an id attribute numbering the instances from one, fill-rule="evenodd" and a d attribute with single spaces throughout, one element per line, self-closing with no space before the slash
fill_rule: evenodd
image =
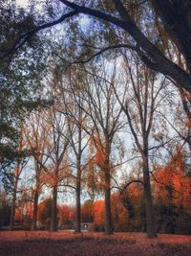
<path id="1" fill-rule="evenodd" d="M 115 70 L 112 71 L 111 69 L 111 74 L 107 73 L 109 65 L 107 66 L 104 61 L 100 61 L 99 66 L 101 68 L 98 65 L 87 66 L 84 70 L 84 78 L 82 77 L 83 73 L 81 73 L 81 94 L 79 97 L 83 97 L 87 103 L 87 105 L 82 106 L 82 109 L 92 123 L 89 122 L 87 126 L 85 124 L 83 128 L 89 134 L 96 150 L 93 162 L 102 172 L 100 183 L 105 197 L 105 232 L 111 234 L 113 232 L 111 182 L 115 171 L 115 165 L 112 163 L 112 158 L 115 157 L 113 157 L 112 150 L 114 150 L 117 130 L 122 128 L 124 124 L 120 120 L 122 108 L 117 105 L 112 83 L 116 78 Z"/>

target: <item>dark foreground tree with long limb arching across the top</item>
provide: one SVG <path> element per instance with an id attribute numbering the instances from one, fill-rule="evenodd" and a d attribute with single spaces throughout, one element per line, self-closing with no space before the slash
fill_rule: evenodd
<path id="1" fill-rule="evenodd" d="M 68 8 L 72 9 L 71 12 L 64 12 L 61 17 L 54 19 L 52 22 L 47 22 L 43 25 L 38 25 L 31 28 L 31 31 L 25 34 L 18 35 L 16 43 L 7 51 L 7 55 L 11 55 L 18 48 L 18 44 L 22 46 L 32 35 L 35 35 L 43 29 L 53 27 L 54 25 L 61 24 L 63 21 L 84 13 L 98 19 L 102 24 L 107 23 L 109 27 L 116 26 L 119 30 L 130 35 L 127 41 L 120 41 L 118 36 L 118 45 L 109 45 L 109 49 L 117 47 L 126 47 L 133 49 L 137 52 L 139 58 L 152 70 L 162 73 L 164 76 L 170 78 L 179 84 L 180 87 L 191 92 L 191 78 L 189 71 L 182 69 L 179 64 L 166 58 L 165 53 L 159 48 L 159 36 L 157 40 L 152 40 L 149 36 L 149 30 L 155 29 L 155 16 L 159 16 L 167 35 L 176 44 L 180 53 L 186 61 L 188 70 L 190 69 L 190 3 L 189 0 L 184 1 L 165 1 L 159 3 L 157 0 L 148 1 L 135 1 L 133 5 L 130 2 L 113 0 L 111 3 L 107 1 L 94 1 L 85 5 L 82 1 L 81 5 L 68 0 L 60 0 Z M 100 6 L 100 8 L 99 8 Z M 144 33 L 143 24 L 145 24 L 146 17 L 143 11 L 149 11 L 149 22 L 151 27 L 147 29 L 147 34 Z M 67 9 L 68 11 L 68 9 Z M 135 12 L 141 13 L 138 19 Z M 154 24 L 154 27 L 152 27 Z M 129 43 L 129 41 L 131 43 Z M 108 50 L 108 47 L 106 47 Z M 101 50 L 101 53 L 103 50 Z M 96 54 L 97 55 L 97 54 Z M 4 57 L 4 56 L 3 56 Z"/>

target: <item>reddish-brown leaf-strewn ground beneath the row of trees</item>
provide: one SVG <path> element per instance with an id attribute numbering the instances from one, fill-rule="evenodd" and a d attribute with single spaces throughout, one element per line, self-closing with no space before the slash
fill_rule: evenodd
<path id="1" fill-rule="evenodd" d="M 0 256 L 191 256 L 191 236 L 143 233 L 82 233 L 48 231 L 0 232 Z"/>

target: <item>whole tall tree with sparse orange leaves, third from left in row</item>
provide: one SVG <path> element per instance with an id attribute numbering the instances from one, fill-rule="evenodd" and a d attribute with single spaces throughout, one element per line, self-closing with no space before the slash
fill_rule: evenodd
<path id="1" fill-rule="evenodd" d="M 51 231 L 57 230 L 57 191 L 61 182 L 66 178 L 68 172 L 67 151 L 69 148 L 69 133 L 67 119 L 51 106 L 41 112 L 41 132 L 44 133 L 44 145 L 41 151 L 33 151 L 34 159 L 39 171 L 44 170 L 42 179 L 47 186 L 53 189 Z M 41 134 L 42 135 L 42 134 Z M 46 139 L 46 141 L 45 141 Z M 43 151 L 42 151 L 43 150 Z M 40 174 L 38 171 L 38 174 Z"/>

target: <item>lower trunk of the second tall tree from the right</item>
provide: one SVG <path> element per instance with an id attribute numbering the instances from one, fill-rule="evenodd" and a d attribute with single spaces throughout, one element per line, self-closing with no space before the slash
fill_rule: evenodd
<path id="1" fill-rule="evenodd" d="M 105 170 L 105 233 L 113 234 L 109 169 Z"/>

